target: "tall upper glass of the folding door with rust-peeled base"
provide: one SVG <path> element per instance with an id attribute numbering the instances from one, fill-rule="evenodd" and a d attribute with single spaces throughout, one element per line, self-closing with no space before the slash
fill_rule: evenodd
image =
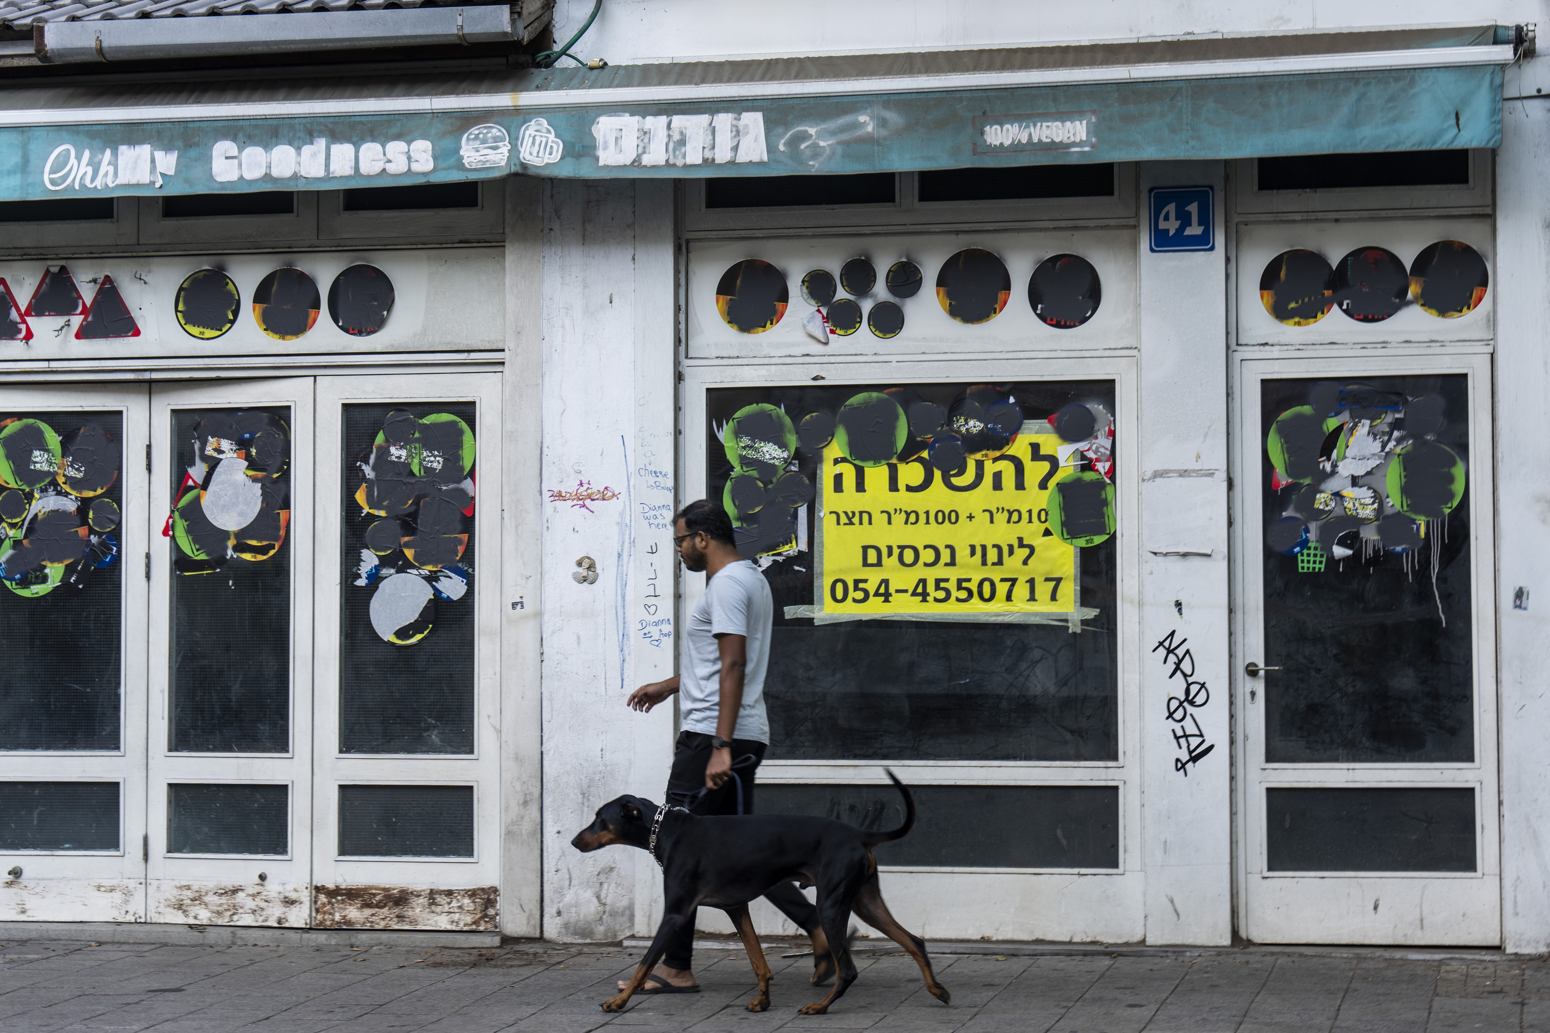
<path id="1" fill-rule="evenodd" d="M 471 402 L 344 406 L 341 752 L 474 749 L 476 427 Z"/>

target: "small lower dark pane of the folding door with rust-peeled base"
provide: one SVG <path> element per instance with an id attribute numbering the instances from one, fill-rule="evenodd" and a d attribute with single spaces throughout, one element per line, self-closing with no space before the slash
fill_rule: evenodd
<path id="1" fill-rule="evenodd" d="M 474 856 L 474 788 L 341 785 L 339 856 Z"/>

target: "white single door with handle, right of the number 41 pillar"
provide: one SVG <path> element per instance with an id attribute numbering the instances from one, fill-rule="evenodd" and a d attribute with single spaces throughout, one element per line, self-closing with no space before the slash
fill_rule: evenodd
<path id="1" fill-rule="evenodd" d="M 1249 940 L 1500 943 L 1490 383 L 1486 354 L 1237 361 Z"/>

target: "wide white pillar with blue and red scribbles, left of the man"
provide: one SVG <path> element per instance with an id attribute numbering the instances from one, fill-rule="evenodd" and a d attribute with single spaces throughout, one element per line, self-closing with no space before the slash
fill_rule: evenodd
<path id="1" fill-rule="evenodd" d="M 673 617 L 673 565 L 657 558 L 671 530 L 640 515 L 673 504 L 673 189 L 552 180 L 542 192 L 542 934 L 611 940 L 634 932 L 637 870 L 656 892 L 656 865 L 628 847 L 581 855 L 570 838 L 622 793 L 660 799 L 671 758 L 671 707 L 639 715 L 625 698 L 673 673 L 671 639 L 643 645 L 639 630 L 646 606 Z M 583 482 L 615 498 L 549 501 Z M 592 585 L 572 579 L 583 555 Z M 648 599 L 653 563 L 663 602 Z"/>

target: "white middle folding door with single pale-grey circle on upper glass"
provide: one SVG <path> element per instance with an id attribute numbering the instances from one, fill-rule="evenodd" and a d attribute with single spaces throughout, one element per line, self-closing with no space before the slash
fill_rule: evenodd
<path id="1" fill-rule="evenodd" d="M 152 391 L 150 921 L 308 924 L 312 396 Z"/>

